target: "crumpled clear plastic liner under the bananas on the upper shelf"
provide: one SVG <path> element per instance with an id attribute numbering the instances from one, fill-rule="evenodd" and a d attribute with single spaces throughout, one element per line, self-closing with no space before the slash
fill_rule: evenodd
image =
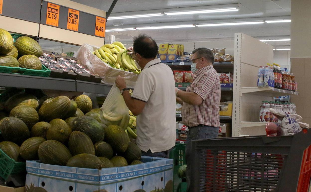
<path id="1" fill-rule="evenodd" d="M 81 61 L 81 65 L 89 69 L 92 73 L 102 77 L 102 82 L 108 85 L 113 85 L 118 75 L 125 78 L 128 87 L 135 87 L 138 74 L 112 68 L 109 64 L 92 54 L 99 47 L 83 44 L 78 49 L 75 57 Z"/>

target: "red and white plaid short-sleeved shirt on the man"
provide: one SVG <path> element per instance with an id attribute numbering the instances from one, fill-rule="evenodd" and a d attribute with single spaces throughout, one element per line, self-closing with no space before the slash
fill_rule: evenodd
<path id="1" fill-rule="evenodd" d="M 195 92 L 202 97 L 200 105 L 183 102 L 182 118 L 188 127 L 200 124 L 219 127 L 220 82 L 219 76 L 212 65 L 194 73 L 193 82 L 187 92 Z"/>

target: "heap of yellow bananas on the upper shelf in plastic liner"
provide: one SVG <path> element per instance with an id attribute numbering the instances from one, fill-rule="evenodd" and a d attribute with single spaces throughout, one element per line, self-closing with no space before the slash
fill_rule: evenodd
<path id="1" fill-rule="evenodd" d="M 112 68 L 139 74 L 141 70 L 137 68 L 134 59 L 127 52 L 124 45 L 116 41 L 112 44 L 104 44 L 96 49 L 93 54 L 103 62 L 108 63 Z"/>

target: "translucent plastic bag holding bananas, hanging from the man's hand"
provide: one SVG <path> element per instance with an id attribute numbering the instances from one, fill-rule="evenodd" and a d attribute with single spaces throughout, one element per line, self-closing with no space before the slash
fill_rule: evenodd
<path id="1" fill-rule="evenodd" d="M 100 119 L 106 126 L 118 125 L 123 130 L 128 126 L 130 115 L 123 96 L 114 84 L 110 89 L 103 106 L 100 108 Z"/>

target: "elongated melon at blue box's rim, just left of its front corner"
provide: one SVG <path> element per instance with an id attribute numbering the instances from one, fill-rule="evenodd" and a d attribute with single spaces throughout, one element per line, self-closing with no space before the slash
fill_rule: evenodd
<path id="1" fill-rule="evenodd" d="M 95 155 L 82 153 L 70 158 L 66 166 L 88 168 L 88 169 L 100 169 L 101 161 Z"/>

